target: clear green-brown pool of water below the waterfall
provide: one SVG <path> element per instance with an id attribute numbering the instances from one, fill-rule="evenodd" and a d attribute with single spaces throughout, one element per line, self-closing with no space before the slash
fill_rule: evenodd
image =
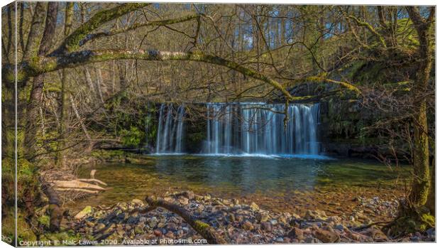
<path id="1" fill-rule="evenodd" d="M 289 209 L 290 203 L 295 202 L 298 207 L 324 200 L 316 199 L 319 193 L 324 194 L 323 198 L 333 194 L 334 201 L 341 202 L 356 194 L 396 193 L 409 179 L 408 166 L 390 167 L 372 160 L 280 156 L 145 156 L 143 163 L 85 166 L 79 171 L 80 176 L 87 178 L 91 169 L 97 169 L 96 178 L 106 182 L 108 189 L 80 201 L 79 207 L 194 190 L 222 198 L 255 200 L 275 210 Z M 308 204 L 307 200 L 312 202 Z"/>

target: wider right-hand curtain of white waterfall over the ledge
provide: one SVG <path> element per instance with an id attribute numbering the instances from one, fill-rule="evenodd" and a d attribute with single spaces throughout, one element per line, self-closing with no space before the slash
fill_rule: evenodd
<path id="1" fill-rule="evenodd" d="M 206 153 L 318 154 L 319 104 L 208 103 Z"/>

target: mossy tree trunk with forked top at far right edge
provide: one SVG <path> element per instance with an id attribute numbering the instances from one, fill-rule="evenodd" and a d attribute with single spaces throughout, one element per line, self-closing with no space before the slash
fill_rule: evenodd
<path id="1" fill-rule="evenodd" d="M 431 72 L 432 57 L 430 42 L 430 28 L 434 22 L 434 7 L 428 18 L 423 18 L 417 7 L 407 7 L 409 18 L 419 36 L 419 65 L 414 77 L 414 149 L 413 149 L 413 181 L 409 198 L 400 203 L 400 210 L 395 221 L 385 227 L 391 235 L 402 235 L 409 232 L 421 232 L 435 226 L 434 212 L 429 207 L 431 180 L 434 179 L 434 168 L 429 170 L 429 133 L 427 119 L 427 101 L 424 96 L 427 92 L 429 74 Z"/>

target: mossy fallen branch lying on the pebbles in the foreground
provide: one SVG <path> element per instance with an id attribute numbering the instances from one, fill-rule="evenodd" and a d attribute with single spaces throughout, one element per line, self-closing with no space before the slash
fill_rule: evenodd
<path id="1" fill-rule="evenodd" d="M 163 207 L 170 212 L 180 215 L 180 217 L 182 217 L 185 222 L 196 230 L 196 232 L 202 235 L 204 239 L 207 239 L 209 244 L 226 244 L 225 239 L 219 234 L 216 234 L 216 230 L 214 230 L 214 228 L 205 222 L 196 220 L 191 213 L 185 210 L 183 207 L 173 203 L 168 203 L 166 200 L 163 200 L 163 198 L 147 196 L 145 200 L 150 206 L 145 208 L 145 210 L 141 210 L 141 212 L 150 212 L 157 207 Z"/>

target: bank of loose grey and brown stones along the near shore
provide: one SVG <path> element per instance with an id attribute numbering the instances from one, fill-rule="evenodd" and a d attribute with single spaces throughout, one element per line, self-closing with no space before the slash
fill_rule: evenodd
<path id="1" fill-rule="evenodd" d="M 376 227 L 368 225 L 374 215 L 392 218 L 397 200 L 355 198 L 357 207 L 349 215 L 326 215 L 320 210 L 307 210 L 304 216 L 292 212 L 270 212 L 257 204 L 243 204 L 237 199 L 195 195 L 192 191 L 167 193 L 164 200 L 185 208 L 192 216 L 207 223 L 231 244 L 328 243 L 328 242 L 433 242 L 435 230 L 392 239 Z M 146 207 L 143 200 L 113 206 L 86 207 L 67 217 L 64 225 L 84 240 L 106 244 L 163 244 L 164 240 L 182 242 L 199 240 L 185 220 L 173 212 L 157 208 L 139 213 Z M 105 241 L 104 243 L 102 243 Z"/>

